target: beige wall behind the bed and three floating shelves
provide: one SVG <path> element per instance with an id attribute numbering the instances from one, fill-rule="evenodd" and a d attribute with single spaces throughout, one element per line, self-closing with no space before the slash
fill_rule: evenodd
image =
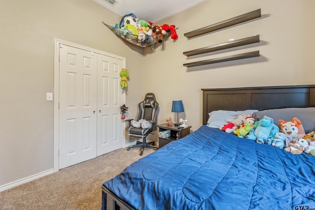
<path id="1" fill-rule="evenodd" d="M 184 33 L 261 8 L 262 17 L 237 26 L 187 39 Z M 168 38 L 143 60 L 143 90 L 156 93 L 158 122 L 171 112 L 172 100 L 183 100 L 180 118 L 196 130 L 202 125 L 202 88 L 233 88 L 315 84 L 315 1 L 310 0 L 207 0 L 160 21 L 178 27 L 178 40 Z M 186 57 L 183 52 L 260 35 L 260 43 L 205 55 Z M 200 67 L 184 63 L 260 51 L 260 57 Z M 150 66 L 150 68 L 146 68 Z M 177 117 L 176 117 L 177 118 Z"/>

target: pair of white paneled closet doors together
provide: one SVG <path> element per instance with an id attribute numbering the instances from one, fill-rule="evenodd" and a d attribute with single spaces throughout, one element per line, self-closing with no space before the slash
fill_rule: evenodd
<path id="1" fill-rule="evenodd" d="M 61 44 L 59 169 L 123 146 L 124 60 Z"/>

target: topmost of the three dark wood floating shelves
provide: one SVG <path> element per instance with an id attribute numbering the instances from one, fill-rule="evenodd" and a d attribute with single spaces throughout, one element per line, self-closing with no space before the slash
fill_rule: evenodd
<path id="1" fill-rule="evenodd" d="M 221 21 L 219 23 L 216 23 L 216 24 L 213 24 L 210 26 L 206 26 L 206 27 L 203 27 L 201 29 L 197 29 L 197 30 L 193 30 L 193 31 L 184 33 L 184 36 L 186 36 L 187 38 L 192 38 L 192 37 L 199 36 L 199 35 L 202 35 L 205 33 L 209 33 L 209 32 L 215 31 L 215 30 L 220 30 L 220 29 L 223 29 L 223 28 L 226 28 L 229 26 L 233 26 L 233 25 L 236 25 L 239 23 L 250 21 L 250 20 L 253 20 L 253 19 L 259 18 L 259 17 L 261 17 L 261 9 L 257 9 L 257 10 L 254 10 L 252 12 L 248 12 L 246 14 L 239 15 L 237 17 L 230 18 L 230 19 L 225 20 L 225 21 Z"/>

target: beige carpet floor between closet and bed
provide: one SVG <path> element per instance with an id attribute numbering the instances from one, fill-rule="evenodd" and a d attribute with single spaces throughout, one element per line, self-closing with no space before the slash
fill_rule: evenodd
<path id="1" fill-rule="evenodd" d="M 101 186 L 155 150 L 109 152 L 0 192 L 0 210 L 100 210 Z"/>

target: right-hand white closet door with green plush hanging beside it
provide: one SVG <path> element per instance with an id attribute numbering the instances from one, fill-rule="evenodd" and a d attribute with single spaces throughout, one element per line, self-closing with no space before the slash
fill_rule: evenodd
<path id="1" fill-rule="evenodd" d="M 98 55 L 97 58 L 97 156 L 123 147 L 124 128 L 120 106 L 124 92 L 120 86 L 123 58 Z"/>

